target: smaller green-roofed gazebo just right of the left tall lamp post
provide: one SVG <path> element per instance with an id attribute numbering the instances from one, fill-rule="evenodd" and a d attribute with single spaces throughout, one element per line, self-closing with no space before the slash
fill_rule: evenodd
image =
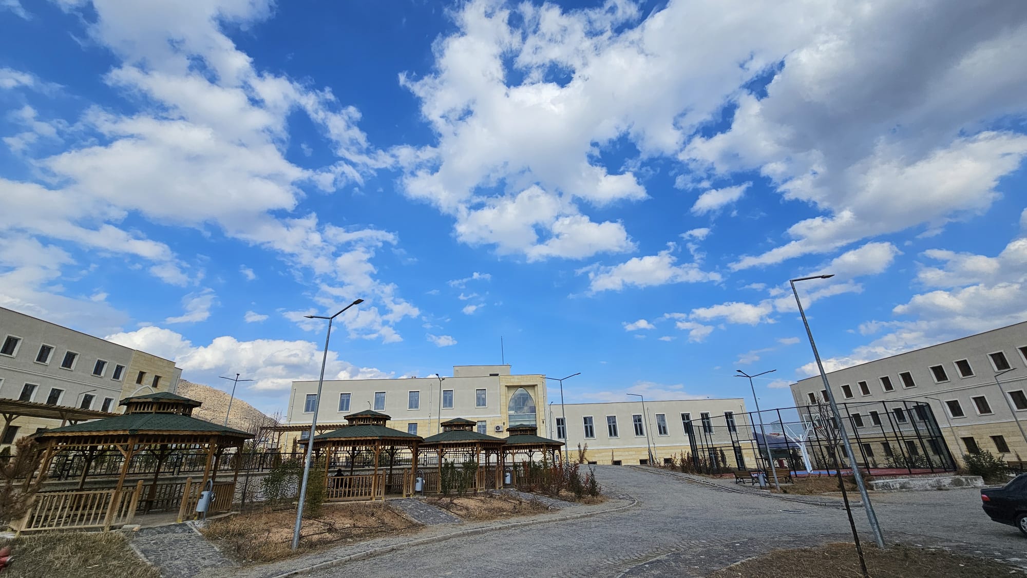
<path id="1" fill-rule="evenodd" d="M 365 410 L 346 416 L 346 427 L 314 436 L 325 461 L 327 500 L 383 500 L 386 493 L 414 493 L 421 437 L 385 427 L 389 416 Z M 306 445 L 306 440 L 301 440 Z"/>

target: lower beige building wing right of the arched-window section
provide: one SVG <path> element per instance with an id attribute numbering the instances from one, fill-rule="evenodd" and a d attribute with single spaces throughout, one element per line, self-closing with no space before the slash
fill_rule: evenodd
<path id="1" fill-rule="evenodd" d="M 587 445 L 586 461 L 599 464 L 648 463 L 649 447 L 656 464 L 680 458 L 682 452 L 726 458 L 730 467 L 755 464 L 755 451 L 748 441 L 753 432 L 741 398 L 616 401 L 567 403 L 567 441 L 570 459 L 577 459 L 577 447 Z M 551 424 L 545 434 L 559 439 L 562 408 L 549 404 Z M 643 417 L 644 416 L 644 417 Z M 591 420 L 591 421 L 588 421 Z M 693 439 L 686 433 L 690 420 Z M 638 423 L 637 422 L 641 422 Z M 648 432 L 648 436 L 646 433 Z M 542 434 L 541 430 L 539 434 Z M 735 440 L 746 440 L 735 442 Z M 738 453 L 735 456 L 735 450 Z M 720 452 L 724 452 L 721 455 Z"/>

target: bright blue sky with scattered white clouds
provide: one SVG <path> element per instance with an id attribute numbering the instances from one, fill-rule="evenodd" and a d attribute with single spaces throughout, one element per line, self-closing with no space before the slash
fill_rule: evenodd
<path id="1" fill-rule="evenodd" d="M 791 404 L 1027 318 L 1027 6 L 0 0 L 0 305 L 255 379 Z M 751 402 L 750 402 L 751 404 Z"/>

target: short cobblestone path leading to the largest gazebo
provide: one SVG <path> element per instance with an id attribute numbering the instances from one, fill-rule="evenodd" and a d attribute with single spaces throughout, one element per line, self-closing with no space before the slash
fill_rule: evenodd
<path id="1" fill-rule="evenodd" d="M 192 578 L 204 570 L 233 566 L 189 524 L 144 528 L 131 534 L 131 543 L 163 578 Z"/>

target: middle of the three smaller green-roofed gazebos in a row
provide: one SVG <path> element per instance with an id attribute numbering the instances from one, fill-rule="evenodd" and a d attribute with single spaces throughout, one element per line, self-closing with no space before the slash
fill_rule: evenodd
<path id="1" fill-rule="evenodd" d="M 502 488 L 502 448 L 506 440 L 479 433 L 474 431 L 476 425 L 470 420 L 455 418 L 442 423 L 442 432 L 424 438 L 420 461 L 425 466 L 435 466 L 435 471 L 425 471 L 426 491 L 442 492 L 443 464 L 447 461 L 461 468 L 470 461 L 477 464 L 474 487 L 471 489 L 476 492 Z"/>

